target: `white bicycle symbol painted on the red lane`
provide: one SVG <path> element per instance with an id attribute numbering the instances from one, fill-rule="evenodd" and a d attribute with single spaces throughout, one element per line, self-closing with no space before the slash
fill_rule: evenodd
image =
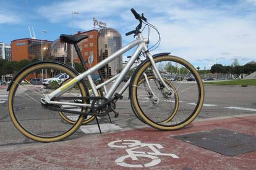
<path id="1" fill-rule="evenodd" d="M 126 152 L 128 155 L 121 156 L 116 159 L 116 164 L 119 166 L 129 167 L 129 168 L 144 168 L 155 166 L 161 162 L 161 159 L 158 156 L 171 156 L 172 158 L 179 158 L 179 156 L 173 153 L 161 153 L 158 149 L 163 149 L 163 146 L 155 143 L 141 143 L 140 140 L 116 140 L 108 143 L 109 147 L 114 148 L 127 148 Z M 135 151 L 139 148 L 148 147 L 151 149 L 150 152 L 145 151 Z M 130 164 L 129 158 L 132 161 L 139 161 L 140 158 L 149 158 L 151 161 L 145 164 Z M 127 163 L 129 161 L 129 163 Z"/>

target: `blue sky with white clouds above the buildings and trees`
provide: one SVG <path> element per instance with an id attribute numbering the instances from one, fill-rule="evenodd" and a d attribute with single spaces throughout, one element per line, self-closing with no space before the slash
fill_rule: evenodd
<path id="1" fill-rule="evenodd" d="M 216 63 L 228 66 L 235 58 L 241 65 L 256 60 L 256 0 L 1 0 L 0 4 L 0 41 L 7 44 L 30 38 L 28 26 L 40 40 L 71 34 L 74 11 L 79 12 L 74 14 L 74 32 L 92 30 L 96 17 L 121 33 L 124 46 L 134 40 L 125 33 L 138 24 L 130 12 L 133 7 L 160 32 L 161 44 L 151 54 L 170 52 L 200 69 Z M 147 29 L 143 35 L 148 36 Z M 151 29 L 150 45 L 157 40 Z"/>

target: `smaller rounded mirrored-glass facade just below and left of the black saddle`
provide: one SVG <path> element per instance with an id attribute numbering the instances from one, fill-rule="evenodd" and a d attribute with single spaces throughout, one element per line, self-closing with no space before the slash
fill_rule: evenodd
<path id="1" fill-rule="evenodd" d="M 61 43 L 59 39 L 53 41 L 51 44 L 51 59 L 61 62 L 70 62 L 70 45 Z"/>

